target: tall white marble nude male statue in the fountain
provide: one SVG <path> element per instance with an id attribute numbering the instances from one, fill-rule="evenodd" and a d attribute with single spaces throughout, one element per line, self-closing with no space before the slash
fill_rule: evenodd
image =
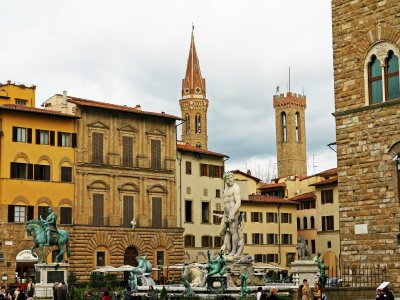
<path id="1" fill-rule="evenodd" d="M 234 256 L 237 253 L 239 242 L 240 188 L 234 181 L 233 173 L 225 173 L 224 180 L 226 183 L 224 190 L 224 215 L 220 228 L 220 235 L 224 239 L 224 244 L 221 250 L 230 252 L 229 256 Z"/>

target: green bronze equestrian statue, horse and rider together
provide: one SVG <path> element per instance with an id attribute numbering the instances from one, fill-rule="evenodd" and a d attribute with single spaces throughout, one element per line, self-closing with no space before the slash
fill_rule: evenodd
<path id="1" fill-rule="evenodd" d="M 71 256 L 69 232 L 57 229 L 57 215 L 51 207 L 48 208 L 46 219 L 43 219 L 42 216 L 40 216 L 38 220 L 29 220 L 25 224 L 25 229 L 28 236 L 33 236 L 34 245 L 31 248 L 33 256 L 36 256 L 33 250 L 39 248 L 40 255 L 38 263 L 45 262 L 43 247 L 58 247 L 60 253 L 56 256 L 55 262 L 64 262 L 65 251 L 67 252 L 67 257 Z"/>

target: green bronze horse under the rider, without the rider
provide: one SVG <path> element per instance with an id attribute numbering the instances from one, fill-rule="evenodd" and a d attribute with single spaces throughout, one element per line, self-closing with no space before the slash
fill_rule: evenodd
<path id="1" fill-rule="evenodd" d="M 33 256 L 36 254 L 33 250 L 39 248 L 39 263 L 44 263 L 43 246 L 46 243 L 46 230 L 42 220 L 29 220 L 25 224 L 26 233 L 28 236 L 33 236 L 34 245 L 31 248 Z M 64 253 L 66 249 L 67 257 L 71 256 L 71 248 L 69 245 L 69 233 L 66 230 L 57 230 L 58 234 L 54 234 L 50 238 L 49 246 L 57 246 L 60 253 L 56 256 L 55 262 L 64 262 Z M 65 247 L 64 247 L 65 246 Z"/>

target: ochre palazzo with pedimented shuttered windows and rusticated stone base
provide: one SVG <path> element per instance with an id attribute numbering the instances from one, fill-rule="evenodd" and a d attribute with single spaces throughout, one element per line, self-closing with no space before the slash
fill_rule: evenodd
<path id="1" fill-rule="evenodd" d="M 44 106 L 80 117 L 70 270 L 85 280 L 102 266 L 136 265 L 138 255 L 160 268 L 181 263 L 175 190 L 179 118 L 66 95 Z M 160 274 L 154 278 L 162 279 Z"/>

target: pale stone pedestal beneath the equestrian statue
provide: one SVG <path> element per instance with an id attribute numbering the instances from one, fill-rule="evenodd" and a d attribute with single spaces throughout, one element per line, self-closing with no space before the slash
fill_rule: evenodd
<path id="1" fill-rule="evenodd" d="M 52 299 L 53 285 L 67 282 L 68 266 L 66 263 L 35 264 L 35 299 Z"/>

